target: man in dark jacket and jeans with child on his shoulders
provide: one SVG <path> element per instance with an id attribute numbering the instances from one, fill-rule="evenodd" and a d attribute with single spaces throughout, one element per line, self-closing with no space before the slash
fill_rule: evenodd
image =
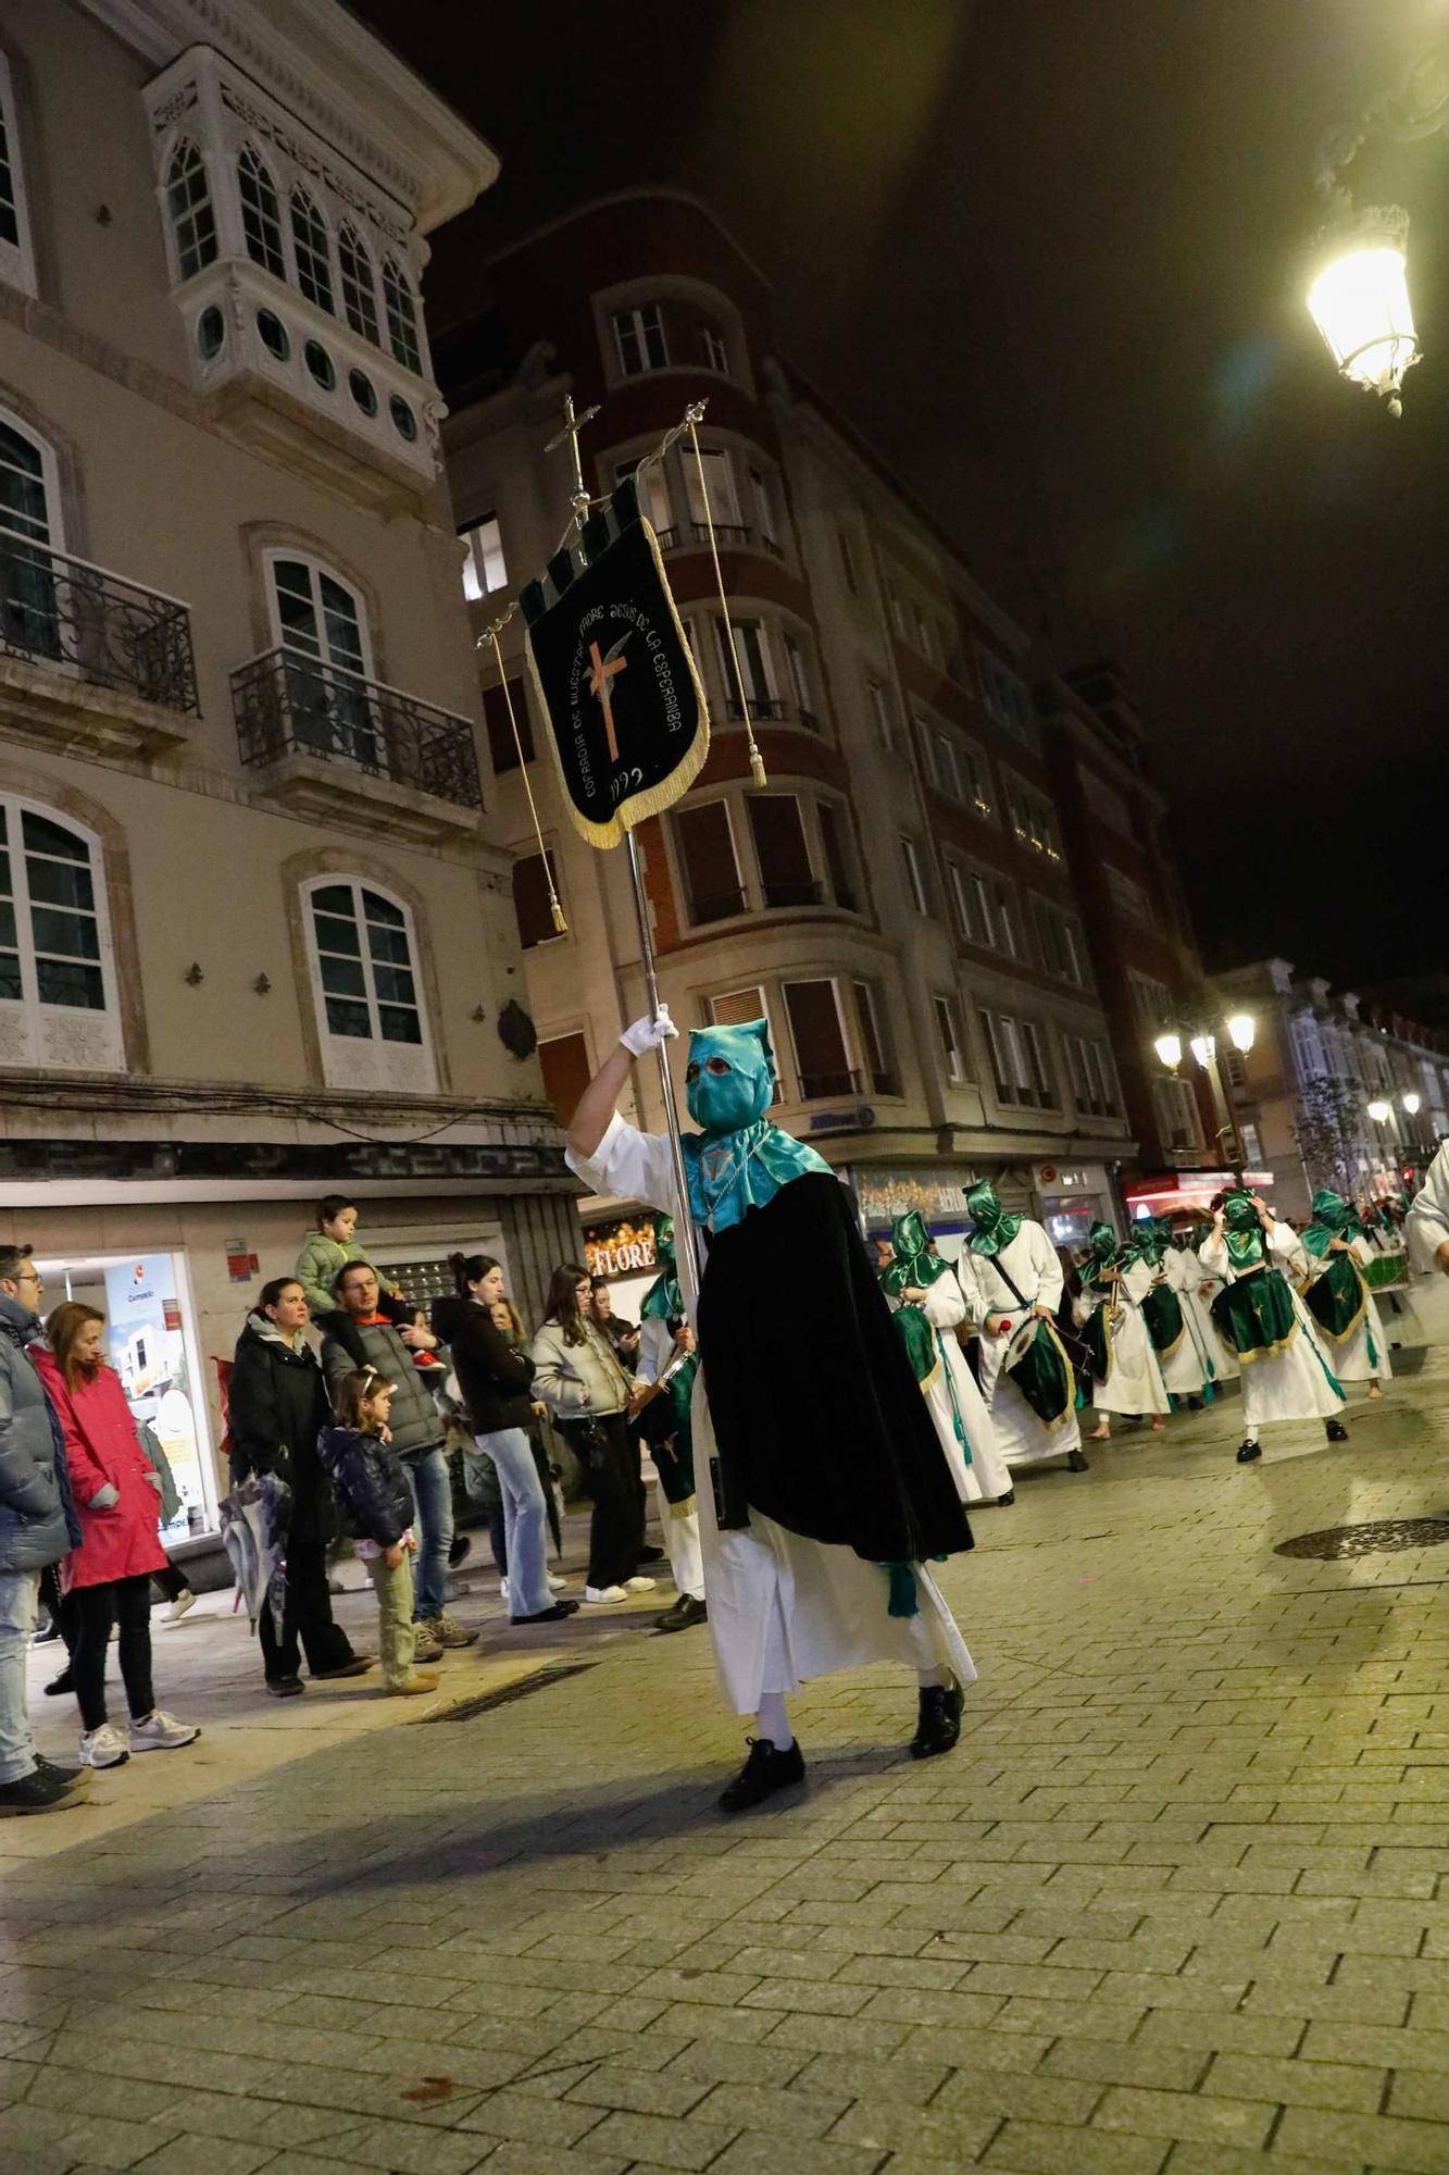
<path id="1" fill-rule="evenodd" d="M 442 1414 L 426 1377 L 413 1366 L 416 1351 L 435 1353 L 442 1346 L 431 1329 L 420 1329 L 416 1322 L 398 1329 L 379 1314 L 379 1298 L 381 1281 L 372 1264 L 344 1262 L 337 1270 L 339 1305 L 318 1322 L 322 1372 L 333 1394 L 344 1375 L 352 1375 L 359 1366 L 374 1366 L 396 1385 L 387 1425 L 418 1507 L 418 1623 L 439 1646 L 472 1646 L 479 1633 L 466 1631 L 444 1614 L 453 1549 L 453 1477 Z"/>

